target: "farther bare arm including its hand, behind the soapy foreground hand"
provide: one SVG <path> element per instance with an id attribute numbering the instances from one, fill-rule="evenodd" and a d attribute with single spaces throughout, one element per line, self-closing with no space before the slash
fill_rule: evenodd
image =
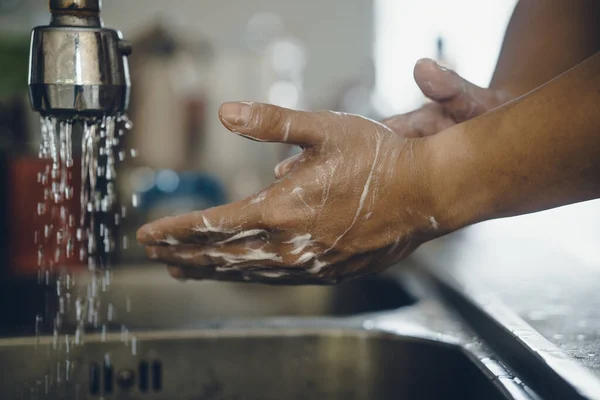
<path id="1" fill-rule="evenodd" d="M 433 102 L 384 124 L 407 138 L 433 135 L 543 85 L 600 50 L 599 16 L 597 0 L 521 0 L 489 88 L 421 60 L 415 81 Z"/>

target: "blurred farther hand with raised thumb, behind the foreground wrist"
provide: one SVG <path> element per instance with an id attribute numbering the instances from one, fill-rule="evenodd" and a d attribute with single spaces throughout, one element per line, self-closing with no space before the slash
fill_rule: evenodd
<path id="1" fill-rule="evenodd" d="M 507 92 L 474 85 L 431 59 L 417 61 L 414 77 L 423 94 L 433 102 L 383 121 L 405 138 L 436 134 L 512 99 Z"/>

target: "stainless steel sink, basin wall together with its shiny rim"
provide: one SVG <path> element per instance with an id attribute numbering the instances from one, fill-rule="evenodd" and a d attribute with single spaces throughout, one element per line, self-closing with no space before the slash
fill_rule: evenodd
<path id="1" fill-rule="evenodd" d="M 88 336 L 71 349 L 71 360 L 84 369 L 77 375 L 79 398 L 104 393 L 107 355 L 106 399 L 536 398 L 434 300 L 345 318 L 202 323 L 137 337 L 135 355 L 119 335 L 106 342 Z M 37 351 L 49 345 L 51 338 L 43 338 Z M 6 371 L 0 393 L 24 388 L 15 382 L 43 380 L 34 339 L 0 340 L 0 369 Z M 132 374 L 139 375 L 133 389 Z"/>

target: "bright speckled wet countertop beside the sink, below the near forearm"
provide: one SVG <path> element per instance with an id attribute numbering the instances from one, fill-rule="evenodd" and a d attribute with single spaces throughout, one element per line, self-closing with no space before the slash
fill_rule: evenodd
<path id="1" fill-rule="evenodd" d="M 556 246 L 464 233 L 424 246 L 415 261 L 476 283 L 600 377 L 600 265 Z"/>

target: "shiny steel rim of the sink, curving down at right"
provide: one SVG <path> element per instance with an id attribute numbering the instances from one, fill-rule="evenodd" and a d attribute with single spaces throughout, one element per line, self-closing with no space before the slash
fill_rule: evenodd
<path id="1" fill-rule="evenodd" d="M 444 332 L 436 332 L 426 324 L 415 322 L 410 310 L 418 311 L 427 301 L 392 311 L 360 314 L 349 317 L 275 317 L 246 320 L 205 321 L 191 329 L 152 330 L 132 332 L 141 343 L 146 340 L 186 340 L 186 339 L 218 339 L 218 338 L 265 338 L 265 337 L 360 337 L 365 339 L 383 338 L 386 340 L 418 342 L 439 348 L 442 351 L 455 351 L 466 357 L 474 367 L 479 369 L 507 399 L 533 399 L 526 392 L 518 379 L 503 365 L 498 358 L 487 349 L 468 346 L 468 339 L 452 336 Z M 52 336 L 40 336 L 39 345 L 51 345 Z M 105 343 L 120 343 L 121 334 L 107 333 Z M 0 339 L 0 351 L 6 347 L 34 346 L 35 336 Z M 86 334 L 84 343 L 102 343 L 100 333 Z M 85 346 L 74 347 L 85 349 Z M 491 359 L 487 363 L 485 359 Z"/>

